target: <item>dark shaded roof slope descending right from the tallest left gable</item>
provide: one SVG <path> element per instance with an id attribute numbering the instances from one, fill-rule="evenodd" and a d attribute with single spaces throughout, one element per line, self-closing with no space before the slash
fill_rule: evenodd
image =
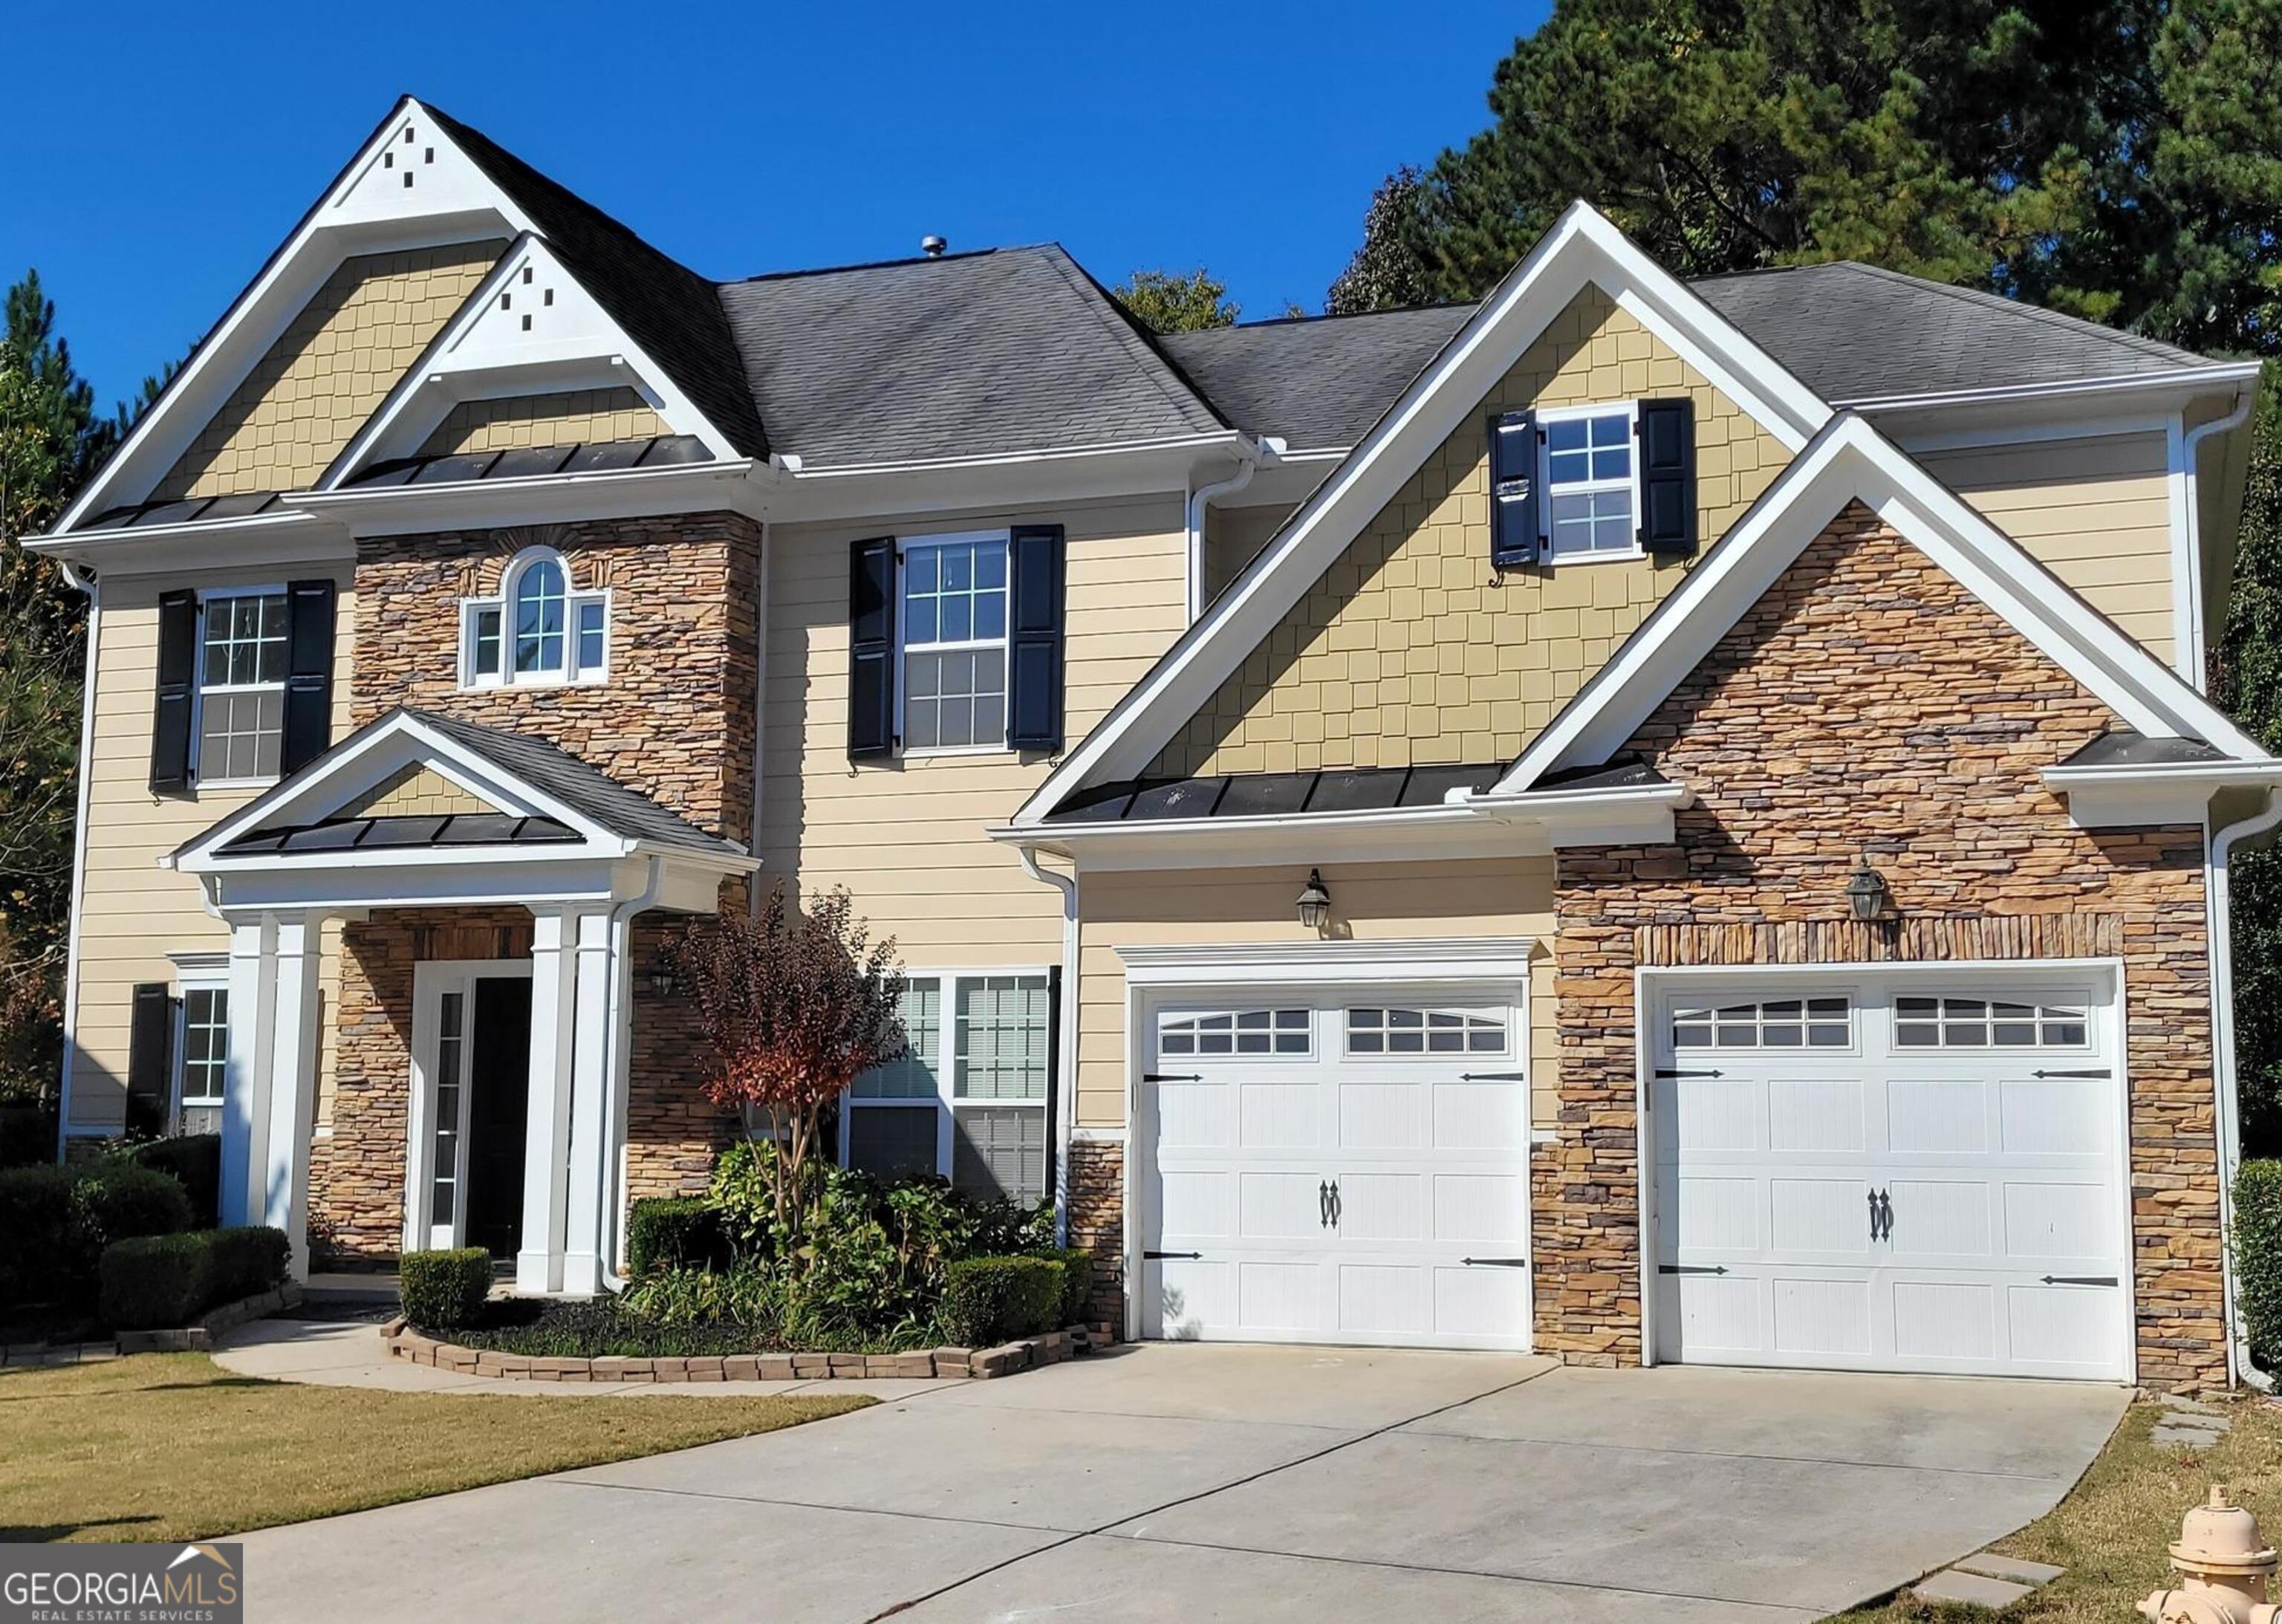
<path id="1" fill-rule="evenodd" d="M 434 105 L 429 114 L 532 217 L 580 285 L 664 367 L 730 445 L 744 456 L 767 456 L 769 436 L 753 408 L 714 285 L 568 187 L 548 180 L 482 130 L 470 130 Z"/>

